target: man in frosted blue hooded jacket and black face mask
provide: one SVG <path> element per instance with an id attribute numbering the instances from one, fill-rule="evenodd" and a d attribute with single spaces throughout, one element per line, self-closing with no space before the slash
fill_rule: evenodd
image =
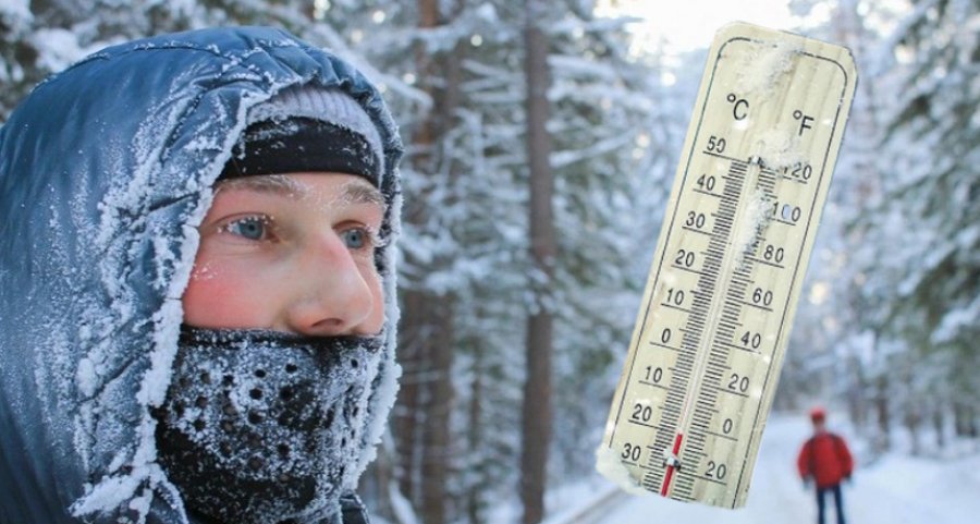
<path id="1" fill-rule="evenodd" d="M 0 523 L 366 522 L 401 154 L 378 90 L 277 29 L 38 85 L 0 129 Z"/>

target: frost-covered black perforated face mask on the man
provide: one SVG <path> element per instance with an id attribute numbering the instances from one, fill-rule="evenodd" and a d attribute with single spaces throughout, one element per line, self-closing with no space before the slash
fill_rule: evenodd
<path id="1" fill-rule="evenodd" d="M 354 484 L 382 337 L 184 327 L 154 416 L 160 465 L 219 522 L 319 522 Z"/>

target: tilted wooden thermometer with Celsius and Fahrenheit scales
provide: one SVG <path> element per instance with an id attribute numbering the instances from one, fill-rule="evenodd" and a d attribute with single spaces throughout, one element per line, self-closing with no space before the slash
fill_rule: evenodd
<path id="1" fill-rule="evenodd" d="M 845 48 L 744 23 L 708 57 L 597 467 L 739 508 L 857 77 Z"/>

